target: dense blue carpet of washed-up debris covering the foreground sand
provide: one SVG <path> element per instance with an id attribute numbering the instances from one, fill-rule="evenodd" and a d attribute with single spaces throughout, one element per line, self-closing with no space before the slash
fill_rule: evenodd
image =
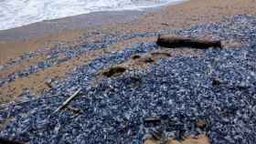
<path id="1" fill-rule="evenodd" d="M 179 30 L 179 35 L 193 37 L 211 31 L 221 42 L 241 38 L 243 45 L 200 49 L 204 57 L 161 58 L 147 70 L 127 69 L 117 77 L 103 77 L 92 86 L 91 80 L 102 69 L 159 47 L 144 43 L 97 57 L 74 69 L 37 99 L 0 109 L 0 121 L 12 118 L 0 137 L 31 144 L 139 144 L 145 136 L 183 141 L 185 136 L 204 135 L 211 144 L 253 144 L 255 25 L 255 15 L 235 15 L 218 24 Z M 139 77 L 139 85 L 129 85 L 132 77 Z M 219 82 L 213 82 L 216 78 Z M 69 107 L 84 112 L 75 118 L 70 110 L 51 115 L 78 87 L 82 96 L 74 98 Z M 148 117 L 161 121 L 145 123 Z"/>

